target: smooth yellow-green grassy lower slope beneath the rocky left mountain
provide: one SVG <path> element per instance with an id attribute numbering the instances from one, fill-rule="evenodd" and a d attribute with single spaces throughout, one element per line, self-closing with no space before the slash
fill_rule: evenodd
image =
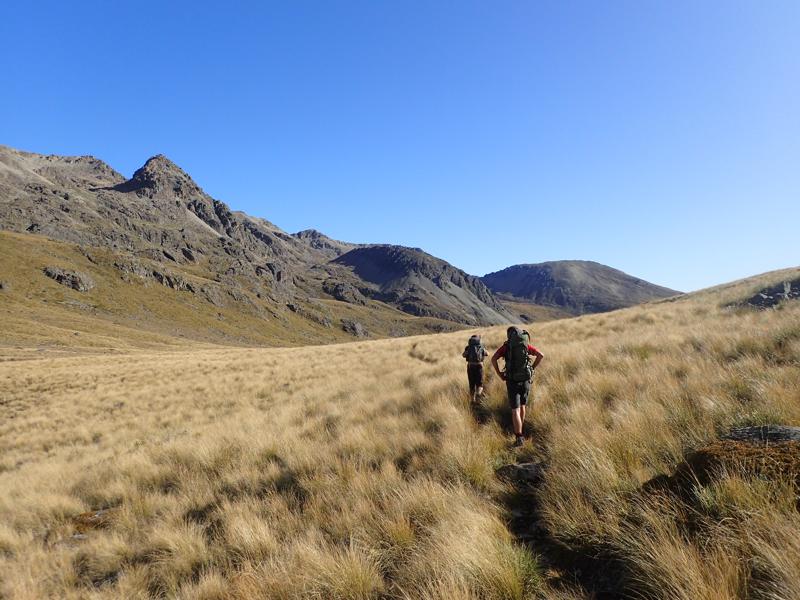
<path id="1" fill-rule="evenodd" d="M 114 263 L 121 255 L 81 248 L 41 236 L 0 231 L 0 349 L 9 355 L 196 348 L 200 345 L 284 346 L 352 340 L 341 320 L 361 323 L 371 336 L 452 330 L 458 324 L 418 318 L 380 302 L 358 306 L 336 300 L 298 303 L 298 312 L 276 311 L 252 295 L 213 304 L 200 295 L 157 281 L 125 281 Z M 146 259 L 140 259 L 148 264 Z M 153 263 L 155 264 L 155 263 Z M 78 292 L 45 277 L 47 266 L 89 275 L 96 283 Z M 158 269 L 164 270 L 160 265 Z M 202 263 L 171 267 L 200 287 L 211 282 Z M 328 317 L 325 326 L 304 315 Z"/>

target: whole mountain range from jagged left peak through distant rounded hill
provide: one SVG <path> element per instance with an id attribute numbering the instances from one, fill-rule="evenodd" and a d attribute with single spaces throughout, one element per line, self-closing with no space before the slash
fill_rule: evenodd
<path id="1" fill-rule="evenodd" d="M 129 307 L 137 327 L 163 328 L 156 316 L 169 306 L 175 316 L 167 322 L 180 335 L 220 330 L 259 344 L 265 332 L 276 343 L 405 335 L 612 310 L 675 293 L 597 263 L 517 265 L 478 278 L 418 248 L 353 244 L 313 229 L 289 234 L 231 210 L 161 154 L 126 179 L 92 156 L 0 146 L 0 230 L 72 245 L 26 243 L 32 255 L 61 262 L 24 275 L 25 289 L 57 273 L 53 281 L 77 282 L 97 306 L 110 306 L 106 292 L 121 306 L 157 285 L 157 297 Z M 0 240 L 4 248 L 20 243 Z M 96 285 L 83 285 L 78 267 Z"/>

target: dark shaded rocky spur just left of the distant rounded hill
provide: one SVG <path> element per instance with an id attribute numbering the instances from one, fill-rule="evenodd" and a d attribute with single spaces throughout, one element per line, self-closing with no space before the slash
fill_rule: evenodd
<path id="1" fill-rule="evenodd" d="M 375 297 L 407 313 L 475 325 L 513 320 L 478 277 L 419 248 L 362 246 L 333 262 L 350 267 L 373 284 Z"/>

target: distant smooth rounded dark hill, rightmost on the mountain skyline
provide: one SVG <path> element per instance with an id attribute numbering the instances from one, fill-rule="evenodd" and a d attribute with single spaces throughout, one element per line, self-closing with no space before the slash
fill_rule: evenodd
<path id="1" fill-rule="evenodd" d="M 514 265 L 481 279 L 503 298 L 571 314 L 605 312 L 680 293 L 585 260 Z"/>

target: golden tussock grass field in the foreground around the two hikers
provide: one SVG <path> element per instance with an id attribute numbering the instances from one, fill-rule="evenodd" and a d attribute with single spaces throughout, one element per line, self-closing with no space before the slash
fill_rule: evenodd
<path id="1" fill-rule="evenodd" d="M 789 274 L 535 325 L 519 451 L 500 381 L 480 418 L 468 406 L 468 331 L 290 349 L 139 332 L 48 356 L 26 345 L 47 331 L 19 325 L 0 363 L 0 597 L 800 597 L 791 460 L 649 491 L 734 425 L 800 425 L 800 305 L 725 307 Z M 494 348 L 503 328 L 483 334 Z M 545 469 L 530 492 L 495 474 L 527 460 Z M 539 528 L 524 540 L 520 506 Z"/>

